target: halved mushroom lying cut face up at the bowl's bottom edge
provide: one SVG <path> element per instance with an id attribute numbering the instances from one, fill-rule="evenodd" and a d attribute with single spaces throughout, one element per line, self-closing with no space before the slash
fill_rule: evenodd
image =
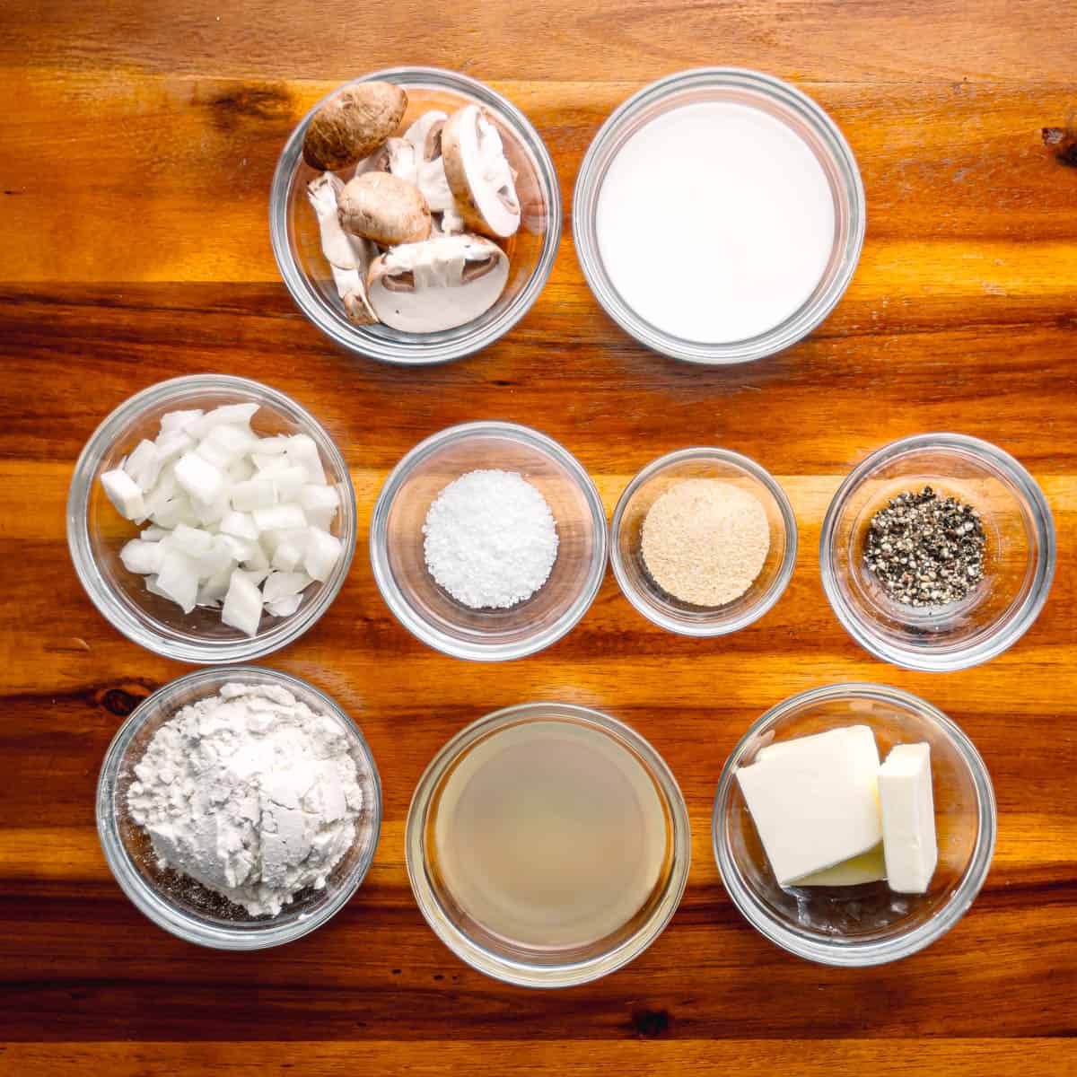
<path id="1" fill-rule="evenodd" d="M 498 302 L 508 258 L 481 236 L 437 236 L 405 243 L 375 258 L 367 277 L 378 319 L 405 333 L 464 325 Z"/>

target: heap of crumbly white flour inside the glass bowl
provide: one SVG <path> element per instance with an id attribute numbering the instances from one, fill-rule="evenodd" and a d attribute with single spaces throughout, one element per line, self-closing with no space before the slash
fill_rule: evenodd
<path id="1" fill-rule="evenodd" d="M 271 685 L 226 684 L 154 735 L 128 794 L 171 867 L 276 915 L 321 889 L 355 836 L 355 764 L 338 724 Z"/>

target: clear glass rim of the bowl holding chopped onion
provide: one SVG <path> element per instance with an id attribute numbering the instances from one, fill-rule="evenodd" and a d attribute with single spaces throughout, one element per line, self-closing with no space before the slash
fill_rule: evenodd
<path id="1" fill-rule="evenodd" d="M 201 644 L 174 642 L 166 640 L 141 625 L 113 595 L 104 582 L 94 559 L 89 543 L 89 528 L 86 522 L 87 506 L 94 481 L 94 474 L 102 457 L 112 447 L 120 432 L 139 415 L 152 407 L 165 405 L 170 400 L 178 400 L 192 393 L 226 395 L 229 391 L 253 393 L 265 396 L 275 407 L 285 414 L 297 417 L 297 424 L 316 431 L 324 440 L 321 449 L 327 451 L 330 463 L 344 479 L 347 489 L 341 499 L 341 534 L 344 555 L 330 577 L 319 590 L 314 601 L 304 603 L 299 610 L 284 623 L 285 631 L 274 635 L 255 635 L 248 640 L 236 640 L 233 643 Z M 71 486 L 67 503 L 67 536 L 71 561 L 75 574 L 89 600 L 109 624 L 132 643 L 137 643 L 154 654 L 178 661 L 193 662 L 199 666 L 223 666 L 232 662 L 249 662 L 265 658 L 282 647 L 294 643 L 304 632 L 310 629 L 322 614 L 332 605 L 344 582 L 348 578 L 352 557 L 355 553 L 355 491 L 351 482 L 351 472 L 345 462 L 336 442 L 328 431 L 300 404 L 269 386 L 251 378 L 238 378 L 224 374 L 192 374 L 180 378 L 170 378 L 149 386 L 141 392 L 129 396 L 115 408 L 90 434 L 85 447 L 79 454 L 71 476 Z M 134 533 L 131 537 L 135 537 Z"/>

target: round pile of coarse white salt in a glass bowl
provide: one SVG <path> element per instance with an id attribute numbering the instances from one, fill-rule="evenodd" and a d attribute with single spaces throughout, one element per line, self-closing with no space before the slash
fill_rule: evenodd
<path id="1" fill-rule="evenodd" d="M 430 506 L 422 533 L 430 574 L 473 610 L 507 610 L 531 598 L 557 560 L 554 514 L 516 472 L 461 475 Z"/>

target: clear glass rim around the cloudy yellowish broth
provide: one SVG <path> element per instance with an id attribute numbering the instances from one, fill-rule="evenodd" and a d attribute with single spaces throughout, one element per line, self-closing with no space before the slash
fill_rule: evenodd
<path id="1" fill-rule="evenodd" d="M 614 737 L 627 741 L 657 781 L 673 815 L 673 866 L 666 893 L 654 917 L 635 935 L 609 953 L 564 965 L 529 965 L 491 954 L 472 942 L 442 911 L 426 880 L 423 829 L 430 799 L 445 768 L 460 753 L 491 729 L 520 718 L 567 717 L 589 722 Z M 601 711 L 575 703 L 518 703 L 478 718 L 451 737 L 431 759 L 416 786 L 408 808 L 405 828 L 408 879 L 416 904 L 434 934 L 464 963 L 476 971 L 505 983 L 523 988 L 569 988 L 607 976 L 638 957 L 666 929 L 681 905 L 691 863 L 691 826 L 684 795 L 676 778 L 659 752 L 635 729 Z"/>

